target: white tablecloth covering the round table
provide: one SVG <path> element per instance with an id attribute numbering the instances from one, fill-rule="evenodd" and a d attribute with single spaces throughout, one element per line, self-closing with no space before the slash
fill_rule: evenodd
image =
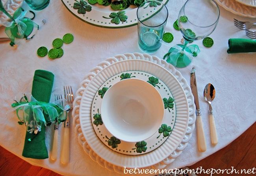
<path id="1" fill-rule="evenodd" d="M 169 0 L 167 4 L 169 17 L 165 31 L 173 33 L 172 44 L 180 44 L 182 38 L 180 31 L 174 29 L 173 23 L 184 3 L 185 0 Z M 28 9 L 26 3 L 23 7 Z M 166 169 L 196 163 L 228 145 L 256 121 L 256 101 L 254 100 L 256 53 L 227 54 L 226 52 L 229 38 L 247 38 L 245 31 L 234 26 L 233 18 L 251 22 L 256 22 L 256 19 L 234 15 L 223 7 L 220 7 L 220 12 L 219 24 L 209 36 L 213 38 L 214 45 L 206 48 L 202 40 L 194 41 L 193 44 L 197 44 L 201 50 L 200 54 L 186 68 L 176 68 L 190 83 L 190 70 L 195 66 L 207 151 L 199 152 L 195 133 L 197 128 L 195 128 L 185 150 Z M 16 114 L 9 110 L 15 97 L 19 99 L 22 93 L 31 92 L 33 75 L 37 69 L 54 73 L 52 95 L 63 94 L 63 85 L 71 85 L 76 92 L 83 77 L 108 57 L 124 53 L 143 53 L 137 45 L 137 26 L 122 29 L 91 26 L 73 16 L 61 1 L 55 0 L 50 1 L 46 9 L 35 13 L 36 17 L 33 21 L 41 25 L 32 40 L 23 39 L 19 42 L 18 48 L 9 46 L 8 42 L 0 44 L 0 104 L 2 105 L 0 145 L 33 165 L 45 167 L 63 175 L 119 175 L 101 167 L 83 151 L 74 133 L 72 122 L 68 165 L 61 164 L 60 152 L 55 162 L 50 158 L 37 160 L 22 157 L 26 127 L 18 125 Z M 43 19 L 46 19 L 45 24 L 41 22 Z M 4 29 L 5 27 L 0 27 L 0 37 L 7 37 Z M 39 47 L 52 48 L 52 41 L 55 38 L 62 38 L 66 33 L 72 33 L 74 41 L 62 46 L 63 57 L 52 60 L 48 56 L 42 58 L 37 56 L 36 51 Z M 151 55 L 163 58 L 168 51 L 169 47 L 161 46 Z M 208 83 L 213 84 L 216 90 L 216 97 L 212 103 L 219 138 L 216 146 L 211 145 L 209 105 L 203 97 L 204 86 Z M 46 129 L 46 146 L 49 151 L 52 146 L 53 128 L 52 125 Z M 61 125 L 59 145 L 62 142 L 62 132 Z"/>

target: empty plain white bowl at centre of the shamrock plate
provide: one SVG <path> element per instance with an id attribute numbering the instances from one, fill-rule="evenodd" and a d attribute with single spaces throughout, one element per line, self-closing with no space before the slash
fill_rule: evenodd
<path id="1" fill-rule="evenodd" d="M 164 105 L 154 86 L 139 79 L 124 79 L 104 94 L 101 117 L 107 130 L 127 142 L 150 138 L 161 127 Z"/>

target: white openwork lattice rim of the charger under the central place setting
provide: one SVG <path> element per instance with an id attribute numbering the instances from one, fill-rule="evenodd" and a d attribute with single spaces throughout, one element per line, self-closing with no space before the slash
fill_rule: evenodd
<path id="1" fill-rule="evenodd" d="M 122 61 L 122 60 L 130 60 L 130 59 L 147 60 L 147 61 L 157 63 L 158 65 L 161 65 L 163 68 L 167 69 L 170 73 L 172 73 L 176 77 L 176 79 L 178 79 L 178 81 L 182 85 L 182 88 L 184 89 L 186 97 L 187 97 L 187 102 L 188 102 L 188 105 L 189 105 L 189 121 L 188 121 L 188 126 L 187 126 L 187 129 L 186 129 L 186 134 L 185 134 L 184 138 L 182 139 L 180 145 L 178 145 L 178 147 L 176 148 L 176 150 L 173 153 L 171 153 L 169 155 L 164 153 L 166 158 L 163 159 L 161 162 L 157 163 L 156 165 L 151 166 L 151 168 L 154 168 L 154 169 L 156 169 L 156 168 L 157 169 L 162 169 L 167 164 L 172 163 L 174 161 L 174 159 L 177 158 L 178 156 L 180 156 L 182 151 L 186 148 L 187 143 L 189 142 L 189 140 L 192 136 L 192 132 L 195 128 L 195 119 L 196 119 L 196 117 L 195 117 L 194 98 L 193 98 L 193 95 L 191 94 L 191 89 L 190 89 L 189 85 L 187 84 L 186 79 L 184 79 L 182 77 L 182 75 L 180 74 L 180 72 L 178 72 L 171 64 L 168 64 L 166 61 L 164 61 L 162 59 L 159 59 L 158 57 L 150 56 L 150 55 L 147 55 L 147 54 L 140 54 L 140 53 L 134 53 L 134 54 L 126 53 L 124 55 L 116 55 L 115 57 L 108 58 L 108 59 L 106 59 L 106 61 L 100 62 L 98 64 L 98 66 L 93 68 L 91 70 L 91 72 L 88 73 L 85 76 L 84 80 L 82 81 L 82 83 L 79 86 L 78 91 L 76 92 L 76 99 L 74 100 L 74 103 L 73 103 L 74 110 L 72 112 L 72 116 L 74 117 L 73 125 L 75 127 L 75 132 L 76 132 L 76 135 L 78 136 L 78 141 L 80 142 L 80 145 L 82 145 L 84 151 L 87 154 L 89 154 L 89 156 L 94 161 L 98 162 L 98 164 L 100 164 L 102 167 L 106 167 L 109 170 L 113 170 L 113 171 L 116 171 L 116 172 L 123 173 L 123 169 L 124 169 L 123 167 L 117 167 L 115 165 L 112 165 L 108 161 L 100 158 L 100 156 L 98 156 L 92 150 L 92 148 L 88 145 L 88 143 L 85 139 L 85 136 L 83 135 L 82 130 L 81 130 L 81 125 L 83 125 L 83 123 L 81 123 L 81 121 L 80 121 L 79 112 L 81 110 L 80 109 L 80 103 L 81 103 L 83 92 L 85 91 L 86 87 L 88 86 L 90 81 L 93 79 L 93 77 L 95 77 L 102 69 L 106 68 L 107 66 L 109 66 L 109 65 L 111 65 L 115 62 L 119 62 L 119 61 Z M 90 118 L 88 118 L 87 120 L 91 121 Z M 88 128 L 87 130 L 90 130 L 91 132 L 94 133 L 93 129 Z M 95 134 L 95 136 L 96 136 L 96 134 Z M 91 136 L 90 138 L 93 138 L 94 140 L 97 140 L 98 138 L 95 138 L 95 136 Z M 168 139 L 170 139 L 170 138 L 168 138 Z M 169 145 L 172 145 L 172 144 L 169 144 Z M 163 146 L 164 145 L 161 145 L 161 147 L 163 147 Z M 100 147 L 100 146 L 98 146 L 98 147 Z M 108 150 L 110 150 L 110 149 L 108 149 Z M 112 156 L 110 156 L 111 155 L 110 152 L 106 152 L 106 153 L 108 154 L 109 158 L 112 157 Z M 161 155 L 162 155 L 162 153 L 161 153 Z M 145 156 L 145 155 L 143 154 L 142 156 Z M 137 166 L 137 163 L 134 163 L 134 165 Z"/>

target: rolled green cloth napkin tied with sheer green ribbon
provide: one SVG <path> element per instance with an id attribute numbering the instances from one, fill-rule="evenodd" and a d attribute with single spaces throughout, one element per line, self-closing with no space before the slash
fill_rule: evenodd
<path id="1" fill-rule="evenodd" d="M 54 74 L 45 70 L 35 70 L 32 84 L 32 96 L 37 101 L 49 103 L 53 82 Z M 47 117 L 45 114 L 44 116 Z M 33 119 L 33 114 L 31 114 L 30 119 Z M 48 158 L 48 151 L 45 145 L 45 124 L 42 124 L 41 132 L 37 133 L 34 138 L 33 136 L 34 133 L 26 132 L 22 156 L 34 159 Z M 28 139 L 31 138 L 33 138 L 32 141 L 28 141 Z"/>

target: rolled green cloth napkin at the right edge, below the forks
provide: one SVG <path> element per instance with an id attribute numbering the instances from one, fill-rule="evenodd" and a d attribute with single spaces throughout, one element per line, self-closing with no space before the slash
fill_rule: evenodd
<path id="1" fill-rule="evenodd" d="M 231 53 L 249 53 L 256 52 L 256 40 L 245 38 L 230 38 L 228 40 L 228 50 Z"/>

